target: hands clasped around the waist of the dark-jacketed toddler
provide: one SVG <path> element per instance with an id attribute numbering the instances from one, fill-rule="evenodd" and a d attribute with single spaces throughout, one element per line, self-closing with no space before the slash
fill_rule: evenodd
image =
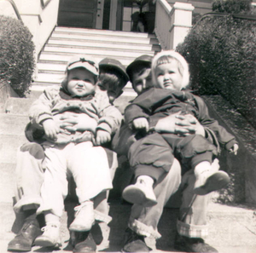
<path id="1" fill-rule="evenodd" d="M 180 112 L 160 118 L 154 129 L 159 133 L 205 136 L 204 127 L 193 115 L 181 115 Z"/>

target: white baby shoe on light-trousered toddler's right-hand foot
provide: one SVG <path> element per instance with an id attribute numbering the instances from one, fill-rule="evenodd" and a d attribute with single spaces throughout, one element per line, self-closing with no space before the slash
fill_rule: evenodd
<path id="1" fill-rule="evenodd" d="M 90 231 L 92 225 L 95 223 L 94 207 L 92 201 L 84 201 L 79 206 L 74 208 L 75 219 L 70 224 L 70 231 Z"/>

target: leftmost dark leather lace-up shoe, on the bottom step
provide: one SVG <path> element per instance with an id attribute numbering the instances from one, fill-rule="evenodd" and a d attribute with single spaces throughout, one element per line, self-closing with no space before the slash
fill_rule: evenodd
<path id="1" fill-rule="evenodd" d="M 37 219 L 26 219 L 20 232 L 8 244 L 9 251 L 30 251 L 34 240 L 41 235 Z"/>

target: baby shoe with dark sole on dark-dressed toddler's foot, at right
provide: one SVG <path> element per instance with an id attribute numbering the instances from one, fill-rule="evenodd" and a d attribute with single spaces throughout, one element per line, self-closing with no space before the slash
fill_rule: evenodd
<path id="1" fill-rule="evenodd" d="M 207 195 L 213 191 L 226 187 L 230 182 L 230 176 L 221 170 L 201 170 L 195 169 L 194 193 L 197 195 Z"/>

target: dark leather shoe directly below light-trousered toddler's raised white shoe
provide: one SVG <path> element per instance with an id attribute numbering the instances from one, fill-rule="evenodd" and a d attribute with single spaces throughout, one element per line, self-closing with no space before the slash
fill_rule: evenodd
<path id="1" fill-rule="evenodd" d="M 96 242 L 90 231 L 75 232 L 73 252 L 96 252 Z"/>

